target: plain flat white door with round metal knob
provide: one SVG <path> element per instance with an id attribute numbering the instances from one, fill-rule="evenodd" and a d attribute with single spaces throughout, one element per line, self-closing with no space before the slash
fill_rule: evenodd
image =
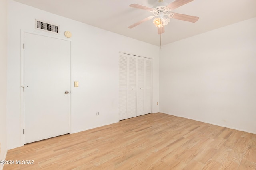
<path id="1" fill-rule="evenodd" d="M 69 132 L 70 41 L 25 33 L 24 143 Z"/>

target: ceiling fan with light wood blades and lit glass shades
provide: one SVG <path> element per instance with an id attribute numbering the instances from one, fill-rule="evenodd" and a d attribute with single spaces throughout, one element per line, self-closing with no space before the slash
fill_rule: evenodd
<path id="1" fill-rule="evenodd" d="M 199 17 L 196 16 L 189 16 L 189 15 L 185 15 L 185 14 L 178 14 L 178 13 L 174 13 L 172 12 L 172 10 L 187 4 L 188 2 L 191 2 L 193 0 L 174 0 L 173 2 L 171 2 L 170 4 L 166 4 L 163 2 L 163 0 L 157 0 L 159 3 L 156 7 L 154 8 L 150 8 L 147 6 L 143 6 L 140 4 L 131 4 L 129 5 L 130 7 L 133 8 L 139 8 L 142 10 L 147 10 L 149 12 L 152 12 L 152 16 L 149 16 L 141 21 L 138 21 L 137 23 L 134 23 L 133 25 L 130 25 L 128 28 L 133 28 L 136 27 L 137 25 L 151 20 L 152 18 L 154 18 L 154 25 L 158 28 L 158 34 L 162 34 L 164 33 L 164 26 L 167 25 L 170 21 L 170 18 L 174 18 L 174 19 L 178 19 L 178 20 L 183 20 L 183 21 L 188 21 L 188 22 L 196 22 L 198 21 Z M 167 18 L 165 16 L 168 16 Z"/>

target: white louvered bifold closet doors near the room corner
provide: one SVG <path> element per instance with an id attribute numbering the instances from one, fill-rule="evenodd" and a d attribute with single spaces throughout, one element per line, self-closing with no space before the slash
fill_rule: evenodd
<path id="1" fill-rule="evenodd" d="M 119 120 L 151 113 L 151 59 L 120 53 Z"/>

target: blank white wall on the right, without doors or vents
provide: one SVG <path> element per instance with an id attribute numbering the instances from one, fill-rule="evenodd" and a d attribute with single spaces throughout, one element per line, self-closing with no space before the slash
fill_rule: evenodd
<path id="1" fill-rule="evenodd" d="M 160 112 L 256 133 L 256 18 L 160 51 Z"/>

